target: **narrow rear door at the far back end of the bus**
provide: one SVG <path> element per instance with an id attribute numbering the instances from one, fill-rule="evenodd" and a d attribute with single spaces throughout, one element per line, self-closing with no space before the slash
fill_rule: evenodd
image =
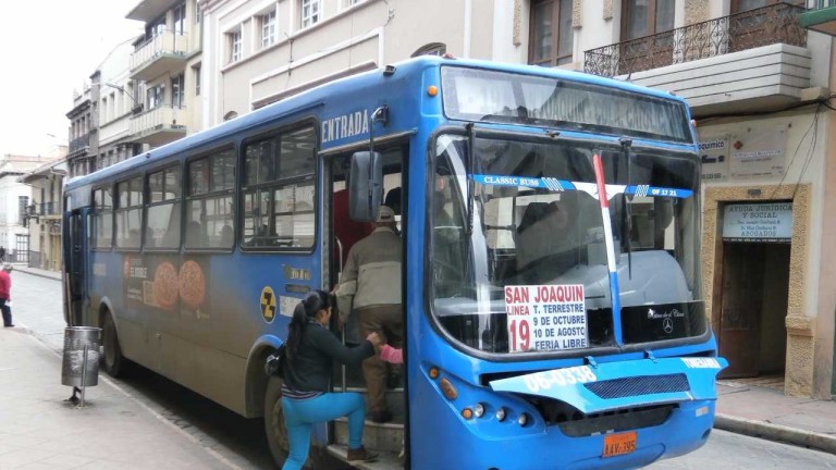
<path id="1" fill-rule="evenodd" d="M 84 311 L 84 214 L 79 209 L 64 217 L 64 320 L 70 326 L 83 324 Z"/>

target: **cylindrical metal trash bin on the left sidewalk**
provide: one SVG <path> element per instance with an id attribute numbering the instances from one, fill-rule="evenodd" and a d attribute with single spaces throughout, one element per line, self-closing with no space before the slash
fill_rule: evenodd
<path id="1" fill-rule="evenodd" d="M 62 385 L 83 388 L 99 384 L 100 333 L 101 329 L 93 326 L 70 326 L 64 329 L 64 362 L 61 368 Z"/>

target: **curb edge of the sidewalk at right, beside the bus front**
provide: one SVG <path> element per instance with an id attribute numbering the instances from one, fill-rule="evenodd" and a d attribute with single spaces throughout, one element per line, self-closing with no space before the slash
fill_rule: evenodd
<path id="1" fill-rule="evenodd" d="M 717 413 L 714 428 L 836 454 L 836 436 Z"/>

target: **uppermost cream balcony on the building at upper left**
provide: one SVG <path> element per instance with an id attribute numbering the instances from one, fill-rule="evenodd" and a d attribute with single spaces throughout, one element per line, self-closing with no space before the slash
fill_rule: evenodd
<path id="1" fill-rule="evenodd" d="M 186 33 L 165 30 L 139 44 L 131 54 L 131 78 L 150 81 L 182 69 L 190 52 L 188 38 Z"/>

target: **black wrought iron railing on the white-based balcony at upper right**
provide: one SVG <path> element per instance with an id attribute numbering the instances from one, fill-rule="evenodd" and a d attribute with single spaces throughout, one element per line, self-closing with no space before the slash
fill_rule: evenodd
<path id="1" fill-rule="evenodd" d="M 788 3 L 721 16 L 677 29 L 591 49 L 583 71 L 616 76 L 723 55 L 773 44 L 804 47 L 807 32 L 798 23 L 806 10 Z"/>

